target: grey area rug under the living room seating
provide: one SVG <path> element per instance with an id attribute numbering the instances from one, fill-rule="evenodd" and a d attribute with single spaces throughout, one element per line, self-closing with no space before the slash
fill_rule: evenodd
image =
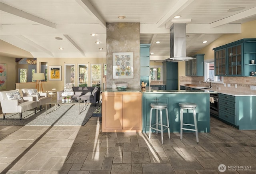
<path id="1" fill-rule="evenodd" d="M 78 105 L 60 105 L 56 110 L 54 105 L 50 108 L 47 106 L 47 115 L 45 115 L 45 106 L 40 112 L 37 107 L 36 114 L 34 110 L 22 113 L 20 120 L 19 113 L 6 114 L 5 119 L 0 118 L 0 125 L 30 125 L 30 126 L 78 126 L 85 125 L 92 117 L 92 113 L 98 108 L 94 103 L 87 103 L 86 106 L 80 104 L 80 115 L 78 114 Z M 84 110 L 85 108 L 85 110 Z"/>

